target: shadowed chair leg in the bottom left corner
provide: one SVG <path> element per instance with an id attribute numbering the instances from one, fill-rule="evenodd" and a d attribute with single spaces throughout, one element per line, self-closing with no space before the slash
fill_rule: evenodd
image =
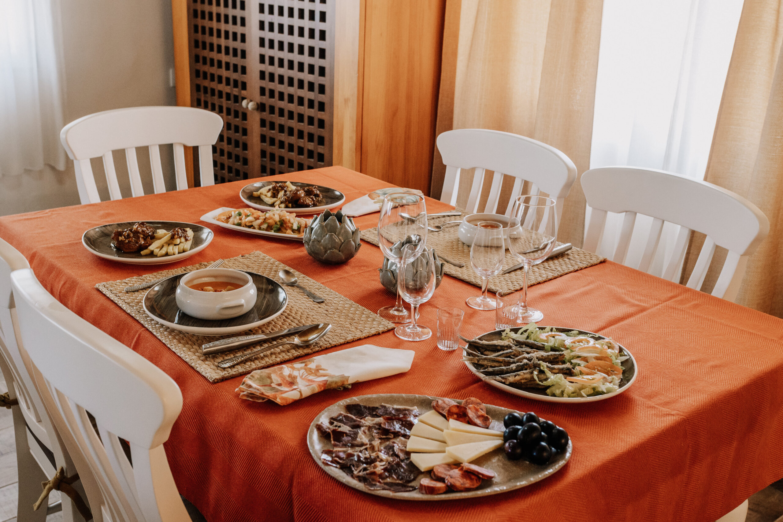
<path id="1" fill-rule="evenodd" d="M 17 522 L 44 522 L 46 508 L 33 510 L 33 504 L 41 496 L 41 482 L 48 481 L 41 466 L 35 462 L 27 446 L 27 425 L 19 406 L 13 407 L 13 427 L 16 435 L 16 470 L 19 476 L 19 503 L 16 506 Z"/>

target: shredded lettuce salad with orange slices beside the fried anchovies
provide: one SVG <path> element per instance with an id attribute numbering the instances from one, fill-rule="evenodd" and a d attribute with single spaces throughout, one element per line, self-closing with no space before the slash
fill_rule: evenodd
<path id="1" fill-rule="evenodd" d="M 537 382 L 547 386 L 547 395 L 551 397 L 590 397 L 619 390 L 621 364 L 628 356 L 621 355 L 619 345 L 608 337 L 597 339 L 579 330 L 558 332 L 551 326 L 539 328 L 531 322 L 516 333 L 506 329 L 503 339 L 534 340 L 544 344 L 544 351 L 563 352 L 565 361 L 576 370 L 574 376 L 551 373 L 543 363 L 541 369 L 547 379 L 539 381 L 538 376 L 533 375 Z"/>

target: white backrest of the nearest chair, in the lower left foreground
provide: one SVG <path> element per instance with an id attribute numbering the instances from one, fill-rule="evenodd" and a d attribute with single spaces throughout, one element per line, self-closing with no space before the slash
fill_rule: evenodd
<path id="1" fill-rule="evenodd" d="M 11 279 L 23 343 L 53 398 L 49 412 L 95 475 L 101 509 L 113 522 L 189 521 L 163 448 L 182 409 L 177 384 L 56 301 L 29 268 Z"/>

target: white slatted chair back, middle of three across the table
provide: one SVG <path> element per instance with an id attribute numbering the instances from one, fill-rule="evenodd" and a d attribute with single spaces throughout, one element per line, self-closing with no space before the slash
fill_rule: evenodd
<path id="1" fill-rule="evenodd" d="M 496 213 L 503 174 L 507 174 L 516 178 L 510 201 L 521 195 L 523 181 L 530 182 L 531 194 L 546 193 L 557 200 L 557 221 L 560 221 L 563 200 L 576 181 L 576 166 L 564 153 L 535 139 L 485 128 L 446 131 L 438 136 L 437 143 L 446 164 L 441 201 L 455 205 L 460 171 L 475 167 L 465 211 L 478 212 L 484 173 L 494 171 L 484 212 Z M 511 207 L 511 204 L 507 206 L 507 216 L 511 215 Z"/>

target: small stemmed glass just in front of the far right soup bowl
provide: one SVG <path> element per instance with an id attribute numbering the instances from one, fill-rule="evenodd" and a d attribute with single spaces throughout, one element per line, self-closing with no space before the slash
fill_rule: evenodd
<path id="1" fill-rule="evenodd" d="M 487 297 L 489 278 L 500 274 L 506 246 L 503 243 L 503 225 L 496 221 L 480 221 L 471 246 L 471 266 L 482 278 L 482 295 L 468 297 L 467 306 L 477 310 L 494 310 L 495 299 Z"/>

